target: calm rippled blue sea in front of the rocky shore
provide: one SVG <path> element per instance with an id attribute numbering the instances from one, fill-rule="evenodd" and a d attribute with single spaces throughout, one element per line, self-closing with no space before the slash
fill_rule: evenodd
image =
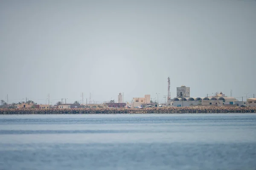
<path id="1" fill-rule="evenodd" d="M 256 170 L 256 114 L 0 115 L 0 170 Z"/>

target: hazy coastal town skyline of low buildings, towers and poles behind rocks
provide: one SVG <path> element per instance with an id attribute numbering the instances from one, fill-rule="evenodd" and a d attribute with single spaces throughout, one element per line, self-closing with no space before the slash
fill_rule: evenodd
<path id="1" fill-rule="evenodd" d="M 231 96 L 231 95 L 230 95 Z M 254 96 L 254 95 L 253 95 Z M 8 95 L 7 95 L 8 97 Z M 83 94 L 82 94 L 83 97 Z M 247 97 L 246 97 L 247 98 Z M 111 98 L 112 99 L 112 98 Z M 7 100 L 8 101 L 8 100 Z M 81 100 L 83 103 L 83 99 Z M 101 104 L 88 103 L 80 104 L 78 101 L 74 102 L 74 104 L 67 104 L 65 99 L 65 104 L 58 102 L 56 105 L 37 105 L 30 100 L 26 103 L 19 102 L 19 104 L 12 103 L 8 105 L 8 102 L 4 102 L 1 100 L 2 108 L 38 108 L 38 109 L 49 109 L 49 108 L 60 108 L 60 109 L 69 109 L 69 108 L 146 108 L 146 107 L 184 107 L 184 106 L 251 106 L 256 107 L 256 99 L 255 98 L 247 98 L 246 101 L 238 101 L 234 97 L 228 97 L 222 92 L 215 94 L 207 94 L 205 97 L 199 96 L 190 96 L 190 87 L 186 87 L 185 85 L 181 85 L 176 88 L 176 97 L 171 98 L 170 95 L 170 78 L 168 77 L 168 95 L 167 101 L 164 103 L 158 103 L 158 94 L 157 100 L 155 98 L 151 98 L 150 94 L 146 94 L 143 97 L 134 97 L 131 102 L 125 102 L 123 98 L 123 94 L 120 92 L 117 96 L 117 102 L 110 100 L 109 102 L 103 102 Z M 4 104 L 5 103 L 5 104 Z"/>

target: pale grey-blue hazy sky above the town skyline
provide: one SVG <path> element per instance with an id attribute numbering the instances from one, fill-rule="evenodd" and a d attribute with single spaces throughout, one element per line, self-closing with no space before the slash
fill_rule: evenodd
<path id="1" fill-rule="evenodd" d="M 0 99 L 256 94 L 255 0 L 0 0 Z"/>

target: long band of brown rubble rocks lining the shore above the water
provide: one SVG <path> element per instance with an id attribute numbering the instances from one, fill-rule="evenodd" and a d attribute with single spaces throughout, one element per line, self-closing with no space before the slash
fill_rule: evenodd
<path id="1" fill-rule="evenodd" d="M 192 106 L 164 108 L 1 108 L 0 114 L 141 114 L 141 113 L 256 113 L 256 107 Z"/>

